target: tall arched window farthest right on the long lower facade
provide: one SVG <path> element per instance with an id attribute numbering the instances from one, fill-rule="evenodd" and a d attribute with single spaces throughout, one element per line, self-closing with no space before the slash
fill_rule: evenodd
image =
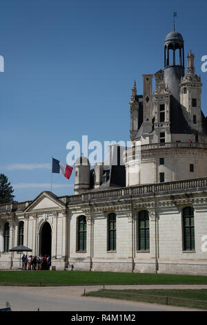
<path id="1" fill-rule="evenodd" d="M 195 250 L 193 207 L 183 210 L 184 250 Z"/>

